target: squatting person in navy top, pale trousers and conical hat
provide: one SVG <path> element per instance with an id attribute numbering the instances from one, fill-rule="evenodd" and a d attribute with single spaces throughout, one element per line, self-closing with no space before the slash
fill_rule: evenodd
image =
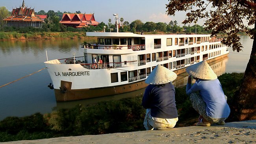
<path id="1" fill-rule="evenodd" d="M 146 130 L 173 128 L 178 121 L 175 103 L 175 89 L 171 82 L 177 75 L 157 65 L 150 73 L 145 83 L 149 84 L 142 98 L 146 109 L 144 127 Z"/>

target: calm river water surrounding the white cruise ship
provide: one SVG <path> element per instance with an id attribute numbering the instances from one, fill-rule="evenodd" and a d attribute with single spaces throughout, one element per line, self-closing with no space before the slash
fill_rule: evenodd
<path id="1" fill-rule="evenodd" d="M 49 60 L 73 57 L 73 54 L 82 56 L 83 48 L 80 48 L 80 44 L 83 41 L 86 40 L 0 41 L 0 86 L 45 68 L 43 62 L 46 61 L 46 50 Z M 250 58 L 252 41 L 247 36 L 241 36 L 243 51 L 237 53 L 228 48 L 228 57 L 210 64 L 215 73 L 219 76 L 225 72 L 244 72 Z M 186 78 L 178 76 L 174 85 L 186 85 Z M 44 69 L 0 88 L 0 120 L 7 116 L 51 113 L 56 109 L 70 108 L 77 104 L 87 105 L 104 100 L 134 97 L 142 95 L 145 90 L 75 102 L 56 102 L 54 90 L 47 87 L 50 82 L 50 76 Z"/>

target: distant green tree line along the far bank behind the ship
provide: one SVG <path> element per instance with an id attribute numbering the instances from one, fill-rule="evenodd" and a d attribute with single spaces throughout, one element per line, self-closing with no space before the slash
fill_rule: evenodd
<path id="1" fill-rule="evenodd" d="M 70 13 L 69 11 L 64 13 Z M 76 11 L 76 13 L 81 13 L 80 11 Z M 2 19 L 11 15 L 11 12 L 6 9 L 6 7 L 0 7 L 0 31 L 18 31 L 18 32 L 38 32 L 38 31 L 52 31 L 52 32 L 76 32 L 76 31 L 106 31 L 106 32 L 114 32 L 117 31 L 115 22 L 114 24 L 111 23 L 111 19 L 108 20 L 108 24 L 101 22 L 97 26 L 88 26 L 83 28 L 74 28 L 74 27 L 67 27 L 59 23 L 62 19 L 63 13 L 61 11 L 53 11 L 49 10 L 45 12 L 44 10 L 40 10 L 35 13 L 36 15 L 47 15 L 45 18 L 45 24 L 41 29 L 38 28 L 14 28 L 14 27 L 5 27 L 4 22 Z M 202 26 L 193 25 L 193 26 L 178 26 L 177 21 L 170 21 L 169 24 L 163 22 L 146 22 L 143 23 L 141 20 L 135 20 L 131 23 L 128 21 L 124 21 L 124 18 L 120 18 L 120 25 L 119 31 L 126 32 L 130 31 L 132 33 L 136 32 L 149 32 L 149 33 L 156 33 L 156 32 L 165 32 L 165 33 L 210 33 L 210 31 L 206 31 Z"/>

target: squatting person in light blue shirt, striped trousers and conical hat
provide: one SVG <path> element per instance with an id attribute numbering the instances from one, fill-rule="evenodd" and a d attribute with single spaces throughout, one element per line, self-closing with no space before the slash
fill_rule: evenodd
<path id="1" fill-rule="evenodd" d="M 200 114 L 197 126 L 224 125 L 230 114 L 227 98 L 217 75 L 206 61 L 201 61 L 186 68 L 189 74 L 186 93 L 190 95 L 193 108 Z M 191 78 L 196 80 L 191 85 Z"/>

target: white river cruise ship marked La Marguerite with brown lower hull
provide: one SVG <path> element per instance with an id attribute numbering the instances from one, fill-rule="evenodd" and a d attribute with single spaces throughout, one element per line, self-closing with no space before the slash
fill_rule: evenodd
<path id="1" fill-rule="evenodd" d="M 46 61 L 56 101 L 65 102 L 142 89 L 156 65 L 176 74 L 200 61 L 228 55 L 221 39 L 209 34 L 143 35 L 128 32 L 87 32 L 98 38 L 83 46 L 80 57 Z M 99 61 L 102 63 L 99 63 Z"/>

